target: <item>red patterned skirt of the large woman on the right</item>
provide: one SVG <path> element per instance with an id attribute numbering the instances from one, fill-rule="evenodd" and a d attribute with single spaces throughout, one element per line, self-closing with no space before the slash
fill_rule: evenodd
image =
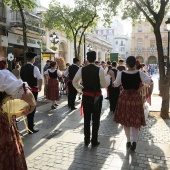
<path id="1" fill-rule="evenodd" d="M 114 121 L 126 127 L 145 126 L 144 109 L 139 90 L 123 90 L 114 115 Z"/>

